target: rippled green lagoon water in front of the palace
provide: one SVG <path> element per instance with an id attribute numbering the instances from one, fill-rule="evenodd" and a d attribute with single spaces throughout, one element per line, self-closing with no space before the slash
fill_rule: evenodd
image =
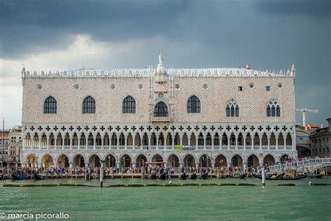
<path id="1" fill-rule="evenodd" d="M 269 181 L 212 179 L 172 183 L 254 183 L 259 186 L 98 187 L 98 180 L 24 180 L 15 183 L 81 183 L 91 187 L 3 187 L 0 213 L 68 213 L 69 220 L 331 220 L 331 178 Z M 10 181 L 6 181 L 10 182 Z M 104 186 L 168 183 L 114 179 Z M 294 183 L 295 186 L 277 186 Z"/>

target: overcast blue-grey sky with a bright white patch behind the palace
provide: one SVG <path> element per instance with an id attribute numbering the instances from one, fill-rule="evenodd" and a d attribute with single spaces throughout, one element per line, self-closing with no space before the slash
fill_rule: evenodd
<path id="1" fill-rule="evenodd" d="M 290 69 L 296 108 L 328 125 L 330 1 L 0 1 L 0 117 L 22 120 L 30 71 L 156 66 Z M 297 113 L 298 123 L 302 114 Z M 2 126 L 1 126 L 2 128 Z"/>

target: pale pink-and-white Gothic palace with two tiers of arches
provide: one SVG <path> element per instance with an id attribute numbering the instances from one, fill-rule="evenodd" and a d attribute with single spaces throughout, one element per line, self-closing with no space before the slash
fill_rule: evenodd
<path id="1" fill-rule="evenodd" d="M 295 157 L 295 66 L 22 69 L 25 166 L 258 166 Z"/>

